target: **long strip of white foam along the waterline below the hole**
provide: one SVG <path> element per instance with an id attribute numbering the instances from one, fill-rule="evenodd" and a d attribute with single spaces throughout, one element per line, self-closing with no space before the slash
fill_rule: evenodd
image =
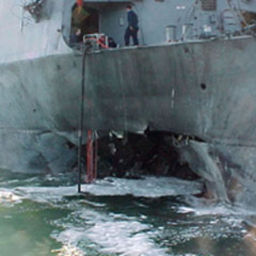
<path id="1" fill-rule="evenodd" d="M 157 198 L 196 194 L 199 193 L 201 188 L 202 184 L 200 182 L 168 177 L 145 177 L 140 180 L 105 178 L 103 180 L 97 180 L 90 185 L 83 185 L 82 191 L 95 196 L 133 195 L 135 197 Z M 9 198 L 10 201 L 27 198 L 39 203 L 56 203 L 57 201 L 61 201 L 65 196 L 77 195 L 77 186 L 17 187 L 13 189 L 2 189 L 1 191 L 2 197 L 5 199 Z"/>

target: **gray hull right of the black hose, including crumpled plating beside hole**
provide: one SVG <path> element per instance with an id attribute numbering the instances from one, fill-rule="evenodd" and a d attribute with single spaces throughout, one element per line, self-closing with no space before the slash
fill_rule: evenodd
<path id="1" fill-rule="evenodd" d="M 255 50 L 251 37 L 90 55 L 89 122 L 189 137 L 178 150 L 208 196 L 254 207 Z"/>

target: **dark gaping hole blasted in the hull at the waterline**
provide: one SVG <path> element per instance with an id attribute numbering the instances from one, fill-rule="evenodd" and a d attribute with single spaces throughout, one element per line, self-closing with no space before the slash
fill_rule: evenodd
<path id="1" fill-rule="evenodd" d="M 156 175 L 197 180 L 200 177 L 179 156 L 182 143 L 182 136 L 163 132 L 127 133 L 123 139 L 103 136 L 98 139 L 98 178 Z"/>

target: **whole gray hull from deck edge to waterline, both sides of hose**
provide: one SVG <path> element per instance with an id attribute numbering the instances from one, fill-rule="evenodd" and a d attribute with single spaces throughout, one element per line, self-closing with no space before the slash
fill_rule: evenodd
<path id="1" fill-rule="evenodd" d="M 243 191 L 255 193 L 248 158 L 256 145 L 255 50 L 255 39 L 245 37 L 90 53 L 84 131 L 188 136 L 180 153 L 212 194 L 244 202 Z M 1 65 L 4 169 L 59 172 L 75 165 L 81 67 L 81 54 Z"/>

